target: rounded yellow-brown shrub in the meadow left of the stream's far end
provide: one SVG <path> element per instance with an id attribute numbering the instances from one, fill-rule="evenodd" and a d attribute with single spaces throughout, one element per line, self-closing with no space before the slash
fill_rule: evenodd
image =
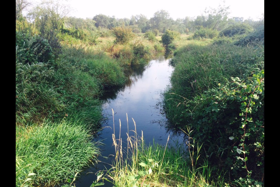
<path id="1" fill-rule="evenodd" d="M 115 27 L 112 32 L 115 36 L 115 44 L 126 44 L 134 37 L 132 30 L 128 27 Z"/>

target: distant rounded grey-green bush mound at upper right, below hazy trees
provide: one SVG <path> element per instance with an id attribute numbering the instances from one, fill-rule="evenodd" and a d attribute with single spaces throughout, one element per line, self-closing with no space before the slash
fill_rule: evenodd
<path id="1" fill-rule="evenodd" d="M 220 32 L 220 36 L 232 37 L 239 34 L 248 34 L 253 31 L 253 28 L 247 24 L 230 25 Z"/>

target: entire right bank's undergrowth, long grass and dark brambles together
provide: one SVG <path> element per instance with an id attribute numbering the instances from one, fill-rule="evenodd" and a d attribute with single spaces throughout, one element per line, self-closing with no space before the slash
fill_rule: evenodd
<path id="1" fill-rule="evenodd" d="M 192 127 L 203 143 L 199 164 L 207 160 L 211 179 L 222 174 L 232 186 L 264 182 L 264 35 L 259 33 L 264 29 L 227 43 L 177 49 L 164 94 L 169 128 Z"/>

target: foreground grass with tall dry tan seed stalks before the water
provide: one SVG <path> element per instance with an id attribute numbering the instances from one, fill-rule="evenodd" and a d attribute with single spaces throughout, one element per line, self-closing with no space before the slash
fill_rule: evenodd
<path id="1" fill-rule="evenodd" d="M 113 112 L 113 109 L 112 109 Z M 114 112 L 113 112 L 114 113 Z M 133 118 L 132 118 L 133 120 Z M 114 118 L 113 118 L 114 121 Z M 113 165 L 107 170 L 106 179 L 113 180 L 116 187 L 142 187 L 142 186 L 222 186 L 223 180 L 216 183 L 209 181 L 210 167 L 207 162 L 198 165 L 199 151 L 201 146 L 190 138 L 188 133 L 186 145 L 162 146 L 155 142 L 146 145 L 143 137 L 135 129 L 128 130 L 127 117 L 127 139 L 123 140 L 120 134 L 112 134 L 115 155 Z M 120 128 L 121 128 L 120 122 Z M 126 127 L 123 127 L 126 128 Z M 197 149 L 197 152 L 193 150 Z"/>

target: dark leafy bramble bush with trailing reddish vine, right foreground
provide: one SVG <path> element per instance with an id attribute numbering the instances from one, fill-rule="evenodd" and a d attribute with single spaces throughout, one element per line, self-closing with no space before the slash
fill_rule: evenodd
<path id="1" fill-rule="evenodd" d="M 264 175 L 264 70 L 241 81 L 231 78 L 218 88 L 186 102 L 184 112 L 195 137 L 204 142 L 209 162 L 217 169 L 260 181 Z M 205 156 L 206 156 L 205 155 Z"/>

